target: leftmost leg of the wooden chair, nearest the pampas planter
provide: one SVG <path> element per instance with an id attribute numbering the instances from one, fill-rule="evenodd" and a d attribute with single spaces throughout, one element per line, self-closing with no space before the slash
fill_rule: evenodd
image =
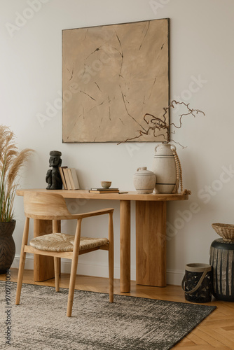
<path id="1" fill-rule="evenodd" d="M 16 290 L 16 297 L 15 297 L 16 305 L 20 304 L 22 276 L 25 269 L 25 259 L 26 259 L 25 246 L 27 245 L 28 235 L 29 235 L 29 218 L 26 218 L 24 233 L 22 237 L 21 253 L 20 253 L 20 266 L 19 266 L 19 272 L 18 272 L 17 290 Z"/>

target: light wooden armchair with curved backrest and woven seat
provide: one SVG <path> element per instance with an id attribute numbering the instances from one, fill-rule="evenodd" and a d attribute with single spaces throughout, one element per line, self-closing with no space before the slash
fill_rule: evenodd
<path id="1" fill-rule="evenodd" d="M 113 209 L 101 209 L 85 214 L 70 214 L 64 197 L 52 193 L 25 193 L 25 229 L 22 237 L 20 253 L 20 267 L 18 273 L 18 286 L 16 290 L 15 304 L 20 304 L 20 293 L 22 288 L 22 276 L 25 267 L 26 253 L 48 255 L 54 257 L 55 265 L 55 290 L 60 290 L 59 264 L 60 258 L 71 259 L 71 275 L 69 282 L 69 295 L 67 302 L 67 316 L 71 316 L 74 299 L 74 287 L 76 281 L 76 269 L 78 255 L 104 249 L 109 251 L 109 301 L 113 302 Z M 81 237 L 81 221 L 83 218 L 109 214 L 109 235 L 107 238 Z M 52 220 L 53 233 L 35 237 L 28 242 L 29 218 L 39 220 Z M 76 219 L 75 235 L 67 235 L 58 232 L 58 221 Z"/>

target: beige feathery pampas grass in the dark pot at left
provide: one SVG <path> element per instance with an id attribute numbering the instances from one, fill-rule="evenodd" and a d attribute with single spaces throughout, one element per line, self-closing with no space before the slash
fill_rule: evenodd
<path id="1" fill-rule="evenodd" d="M 29 148 L 18 151 L 15 134 L 9 127 L 0 125 L 0 222 L 8 222 L 13 219 L 13 202 L 18 187 L 18 174 L 32 151 Z"/>

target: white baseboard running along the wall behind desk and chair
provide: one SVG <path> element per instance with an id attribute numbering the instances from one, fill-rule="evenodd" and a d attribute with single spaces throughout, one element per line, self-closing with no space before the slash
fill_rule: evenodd
<path id="1" fill-rule="evenodd" d="M 18 269 L 20 263 L 20 255 L 15 255 L 15 259 L 11 267 Z M 33 255 L 27 255 L 25 260 L 25 269 L 34 269 Z M 71 262 L 67 259 L 61 260 L 61 272 L 69 273 L 71 270 Z M 108 277 L 108 267 L 104 265 L 90 265 L 87 263 L 79 262 L 77 274 L 83 274 L 84 276 L 95 277 Z M 184 272 L 176 271 L 172 269 L 167 270 L 167 284 L 174 286 L 180 286 L 184 277 Z M 114 278 L 120 279 L 120 267 L 115 266 Z M 136 281 L 136 269 L 131 269 L 131 280 Z"/>

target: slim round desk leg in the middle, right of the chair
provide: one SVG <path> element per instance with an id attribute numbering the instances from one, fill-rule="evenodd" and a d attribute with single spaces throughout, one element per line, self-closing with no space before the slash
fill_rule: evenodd
<path id="1" fill-rule="evenodd" d="M 120 220 L 121 220 L 121 292 L 130 292 L 130 200 L 120 201 Z"/>

